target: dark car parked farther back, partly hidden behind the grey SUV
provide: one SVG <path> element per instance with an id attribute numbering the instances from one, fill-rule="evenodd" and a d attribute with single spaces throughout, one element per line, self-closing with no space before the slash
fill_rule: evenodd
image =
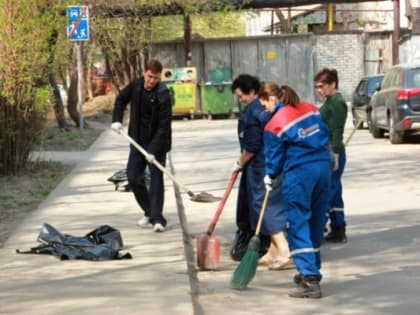
<path id="1" fill-rule="evenodd" d="M 368 104 L 372 94 L 376 92 L 377 87 L 381 84 L 383 77 L 383 74 L 378 74 L 366 76 L 359 81 L 359 84 L 353 92 L 351 102 L 354 127 L 358 126 L 359 129 L 362 129 L 363 124 L 368 123 Z"/>

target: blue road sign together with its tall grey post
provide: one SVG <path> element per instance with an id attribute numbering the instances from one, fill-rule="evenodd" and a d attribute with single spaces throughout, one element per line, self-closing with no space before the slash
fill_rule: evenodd
<path id="1" fill-rule="evenodd" d="M 79 105 L 79 127 L 83 129 L 83 62 L 82 41 L 89 40 L 88 6 L 67 7 L 67 36 L 77 47 L 77 100 Z"/>

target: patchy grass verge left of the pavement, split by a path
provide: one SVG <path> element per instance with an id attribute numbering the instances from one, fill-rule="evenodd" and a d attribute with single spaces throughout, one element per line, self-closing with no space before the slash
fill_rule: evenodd
<path id="1" fill-rule="evenodd" d="M 109 103 L 109 101 L 108 101 Z M 109 126 L 109 109 L 98 108 L 86 117 L 88 128 L 70 127 L 60 131 L 55 120 L 48 121 L 37 151 L 84 151 Z M 56 161 L 30 162 L 20 176 L 0 176 L 0 247 L 31 211 L 57 187 L 74 165 Z"/>

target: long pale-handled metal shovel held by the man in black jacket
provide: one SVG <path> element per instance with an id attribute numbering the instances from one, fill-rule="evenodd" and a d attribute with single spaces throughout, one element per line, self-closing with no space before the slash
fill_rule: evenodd
<path id="1" fill-rule="evenodd" d="M 120 131 L 120 134 L 122 134 L 127 140 L 136 147 L 137 150 L 141 154 L 144 155 L 146 160 L 149 163 L 152 163 L 154 166 L 156 166 L 159 170 L 162 171 L 162 173 L 168 175 L 168 177 L 176 184 L 178 185 L 181 192 L 187 193 L 188 196 L 192 201 L 196 202 L 215 202 L 220 200 L 220 198 L 213 196 L 212 194 L 209 194 L 208 192 L 201 192 L 199 194 L 194 194 L 190 189 L 188 189 L 187 186 L 181 184 L 178 179 L 175 178 L 174 175 L 170 171 L 168 171 L 165 167 L 162 166 L 158 161 L 156 161 L 153 157 L 153 155 L 149 154 L 140 144 L 138 144 L 133 138 L 131 138 L 126 132 Z"/>

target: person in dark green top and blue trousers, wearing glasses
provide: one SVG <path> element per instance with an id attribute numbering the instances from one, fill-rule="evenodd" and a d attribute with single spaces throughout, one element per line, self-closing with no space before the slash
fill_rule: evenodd
<path id="1" fill-rule="evenodd" d="M 344 126 L 347 119 L 347 104 L 341 93 L 338 92 L 337 70 L 327 68 L 321 70 L 315 75 L 314 82 L 318 94 L 325 98 L 320 112 L 328 126 L 331 139 L 330 146 L 334 154 L 334 171 L 331 178 L 328 213 L 330 231 L 324 237 L 324 240 L 331 243 L 346 243 L 346 219 L 344 215 L 341 177 L 347 160 L 346 149 L 343 143 Z"/>

